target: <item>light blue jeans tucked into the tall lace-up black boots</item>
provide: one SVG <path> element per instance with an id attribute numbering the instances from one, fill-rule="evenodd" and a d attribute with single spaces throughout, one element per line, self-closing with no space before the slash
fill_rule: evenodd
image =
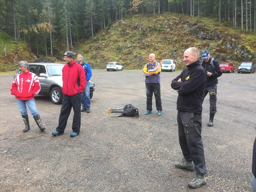
<path id="1" fill-rule="evenodd" d="M 26 103 L 28 105 L 28 108 L 29 108 L 29 111 L 30 111 L 31 115 L 32 116 L 38 115 L 38 112 L 36 110 L 35 99 L 30 99 L 30 100 L 16 99 L 16 100 L 17 100 L 17 104 L 18 104 L 18 107 L 20 109 L 21 115 L 27 115 L 28 114 Z"/>

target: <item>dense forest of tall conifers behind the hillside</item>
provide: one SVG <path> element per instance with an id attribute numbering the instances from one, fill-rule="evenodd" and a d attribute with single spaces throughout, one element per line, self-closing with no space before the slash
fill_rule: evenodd
<path id="1" fill-rule="evenodd" d="M 129 14 L 215 17 L 255 32 L 255 10 L 256 0 L 0 0 L 0 30 L 35 54 L 53 55 Z"/>

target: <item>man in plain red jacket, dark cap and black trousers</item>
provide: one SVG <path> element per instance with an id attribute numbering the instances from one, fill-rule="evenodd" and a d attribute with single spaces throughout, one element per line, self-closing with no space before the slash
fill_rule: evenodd
<path id="1" fill-rule="evenodd" d="M 70 134 L 70 137 L 76 137 L 80 132 L 81 93 L 85 88 L 86 77 L 82 66 L 76 63 L 75 54 L 73 52 L 67 51 L 63 55 L 65 63 L 67 63 L 62 69 L 63 100 L 60 109 L 59 126 L 56 128 L 56 131 L 52 133 L 52 135 L 57 136 L 64 133 L 71 108 L 73 107 L 73 132 Z"/>

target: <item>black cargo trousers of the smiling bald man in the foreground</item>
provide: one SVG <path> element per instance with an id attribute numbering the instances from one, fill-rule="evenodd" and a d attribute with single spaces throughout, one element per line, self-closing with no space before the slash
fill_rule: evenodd
<path id="1" fill-rule="evenodd" d="M 202 114 L 179 111 L 177 115 L 180 148 L 187 161 L 193 161 L 195 172 L 207 173 L 204 146 L 201 139 Z"/>

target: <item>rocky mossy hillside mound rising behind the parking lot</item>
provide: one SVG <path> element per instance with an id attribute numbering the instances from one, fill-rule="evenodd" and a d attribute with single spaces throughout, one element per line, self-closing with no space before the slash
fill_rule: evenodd
<path id="1" fill-rule="evenodd" d="M 194 18 L 166 12 L 161 15 L 126 16 L 110 28 L 99 32 L 93 40 L 81 44 L 80 52 L 92 68 L 105 68 L 118 61 L 125 69 L 141 69 L 148 54 L 156 60 L 174 59 L 184 68 L 183 52 L 189 47 L 208 49 L 219 62 L 240 65 L 256 60 L 255 33 L 234 30 L 209 18 Z"/>

